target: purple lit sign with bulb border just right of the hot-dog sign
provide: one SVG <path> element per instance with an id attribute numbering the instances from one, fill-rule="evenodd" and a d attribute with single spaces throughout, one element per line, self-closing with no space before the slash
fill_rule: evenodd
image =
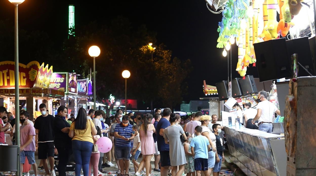
<path id="1" fill-rule="evenodd" d="M 55 72 L 52 74 L 49 88 L 68 92 L 68 72 Z"/>

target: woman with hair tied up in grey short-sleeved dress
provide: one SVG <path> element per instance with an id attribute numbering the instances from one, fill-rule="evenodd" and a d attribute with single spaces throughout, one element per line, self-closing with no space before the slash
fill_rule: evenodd
<path id="1" fill-rule="evenodd" d="M 170 114 L 169 122 L 170 126 L 165 128 L 165 143 L 169 144 L 170 148 L 170 164 L 172 166 L 172 176 L 181 176 L 184 171 L 184 165 L 186 164 L 185 152 L 183 144 L 180 139 L 180 135 L 186 140 L 186 135 L 181 125 L 179 125 L 181 119 L 178 114 Z M 179 171 L 177 172 L 177 167 Z"/>

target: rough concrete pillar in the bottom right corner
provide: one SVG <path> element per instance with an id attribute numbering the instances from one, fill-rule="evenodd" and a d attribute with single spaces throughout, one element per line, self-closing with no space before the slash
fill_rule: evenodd
<path id="1" fill-rule="evenodd" d="M 316 173 L 315 90 L 316 77 L 298 77 L 289 83 L 284 111 L 288 176 Z"/>

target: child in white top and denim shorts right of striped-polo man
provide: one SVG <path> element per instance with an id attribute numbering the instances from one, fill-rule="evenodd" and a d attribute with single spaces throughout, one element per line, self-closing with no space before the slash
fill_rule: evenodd
<path id="1" fill-rule="evenodd" d="M 140 148 L 140 139 L 139 139 L 139 126 L 134 125 L 132 128 L 132 133 L 134 133 L 134 142 L 133 142 L 133 149 L 131 150 L 131 154 L 133 156 L 133 164 L 134 164 L 134 171 L 137 172 L 139 164 L 137 162 L 138 156 L 140 152 L 142 151 Z"/>

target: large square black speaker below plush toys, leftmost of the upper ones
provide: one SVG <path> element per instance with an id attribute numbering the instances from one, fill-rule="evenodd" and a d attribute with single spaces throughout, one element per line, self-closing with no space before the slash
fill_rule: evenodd
<path id="1" fill-rule="evenodd" d="M 285 38 L 253 44 L 260 82 L 292 77 Z"/>

